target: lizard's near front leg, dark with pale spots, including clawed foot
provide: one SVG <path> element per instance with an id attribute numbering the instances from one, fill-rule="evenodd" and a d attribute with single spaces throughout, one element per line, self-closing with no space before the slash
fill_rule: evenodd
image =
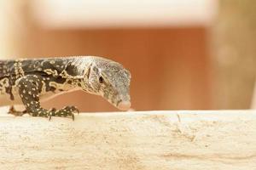
<path id="1" fill-rule="evenodd" d="M 78 109 L 74 106 L 67 106 L 61 110 L 46 110 L 41 107 L 39 102 L 40 93 L 42 93 L 42 89 L 45 89 L 45 82 L 41 76 L 37 75 L 28 75 L 26 77 L 20 78 L 18 88 L 20 99 L 26 107 L 26 112 L 31 116 L 72 116 L 74 120 L 73 112 L 79 112 Z"/>

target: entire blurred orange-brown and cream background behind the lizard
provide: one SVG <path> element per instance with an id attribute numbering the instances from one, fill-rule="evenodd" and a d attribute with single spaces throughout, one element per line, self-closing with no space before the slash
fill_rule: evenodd
<path id="1" fill-rule="evenodd" d="M 131 71 L 137 111 L 249 109 L 255 8 L 252 0 L 0 0 L 0 59 L 108 57 Z M 44 103 L 64 105 L 117 111 L 83 92 Z"/>

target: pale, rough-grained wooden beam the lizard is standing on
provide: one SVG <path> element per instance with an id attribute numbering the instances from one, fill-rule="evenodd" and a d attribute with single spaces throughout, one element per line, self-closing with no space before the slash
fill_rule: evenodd
<path id="1" fill-rule="evenodd" d="M 1 114 L 0 153 L 0 169 L 256 169 L 256 111 L 97 113 L 75 122 Z"/>

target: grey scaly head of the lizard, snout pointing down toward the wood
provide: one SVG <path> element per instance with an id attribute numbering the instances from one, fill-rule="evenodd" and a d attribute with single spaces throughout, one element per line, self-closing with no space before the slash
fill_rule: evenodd
<path id="1" fill-rule="evenodd" d="M 109 59 L 96 58 L 85 78 L 90 93 L 101 95 L 119 110 L 129 110 L 131 73 L 123 65 Z"/>

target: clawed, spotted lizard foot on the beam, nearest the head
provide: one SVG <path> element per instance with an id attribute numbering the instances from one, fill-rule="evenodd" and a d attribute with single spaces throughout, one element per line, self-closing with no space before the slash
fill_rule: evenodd
<path id="1" fill-rule="evenodd" d="M 74 113 L 79 114 L 79 109 L 75 106 L 66 106 L 61 110 L 56 110 L 55 108 L 53 108 L 49 111 L 49 121 L 51 120 L 52 116 L 62 116 L 62 117 L 71 116 L 74 121 Z"/>

